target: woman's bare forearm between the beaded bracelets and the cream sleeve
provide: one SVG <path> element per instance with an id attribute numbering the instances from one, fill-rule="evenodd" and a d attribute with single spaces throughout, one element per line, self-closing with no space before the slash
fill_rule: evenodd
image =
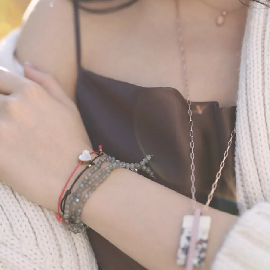
<path id="1" fill-rule="evenodd" d="M 198 207 L 201 207 L 198 204 Z M 191 214 L 191 200 L 125 169 L 111 176 L 87 201 L 83 221 L 149 270 L 174 270 L 183 217 Z M 209 209 L 212 217 L 204 269 L 237 217 Z"/>

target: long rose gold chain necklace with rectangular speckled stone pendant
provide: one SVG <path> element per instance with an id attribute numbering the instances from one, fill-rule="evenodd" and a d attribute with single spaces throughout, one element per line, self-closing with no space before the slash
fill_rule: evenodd
<path id="1" fill-rule="evenodd" d="M 188 87 L 187 71 L 186 71 L 186 62 L 185 62 L 185 52 L 183 46 L 183 37 L 182 37 L 182 28 L 180 21 L 180 9 L 179 9 L 179 0 L 175 0 L 176 4 L 176 21 L 177 28 L 179 33 L 179 42 L 180 50 L 182 56 L 183 64 L 183 74 L 184 82 L 187 92 L 187 103 L 188 103 L 188 116 L 189 116 L 189 125 L 190 125 L 190 158 L 191 158 L 191 199 L 193 203 L 194 215 L 188 215 L 184 217 L 182 225 L 182 234 L 180 237 L 179 249 L 177 251 L 177 265 L 185 265 L 186 270 L 192 270 L 193 267 L 202 267 L 204 264 L 206 249 L 208 244 L 208 235 L 210 231 L 211 217 L 201 215 L 203 212 L 207 211 L 209 204 L 213 198 L 214 192 L 217 188 L 218 181 L 221 177 L 221 171 L 224 168 L 225 160 L 228 156 L 229 149 L 232 145 L 232 140 L 235 136 L 235 126 L 232 130 L 230 140 L 228 141 L 227 149 L 224 152 L 223 160 L 220 163 L 220 168 L 217 172 L 215 181 L 212 185 L 211 191 L 208 195 L 207 202 L 203 207 L 203 211 L 199 208 L 196 208 L 196 199 L 195 199 L 195 165 L 194 165 L 194 132 L 193 132 L 193 119 L 192 119 L 192 110 L 191 110 L 191 101 L 190 101 L 190 91 Z"/>

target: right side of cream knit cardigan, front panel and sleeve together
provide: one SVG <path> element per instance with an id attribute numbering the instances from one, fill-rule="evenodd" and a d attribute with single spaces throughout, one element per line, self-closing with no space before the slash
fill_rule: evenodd
<path id="1" fill-rule="evenodd" d="M 235 176 L 242 216 L 211 270 L 270 269 L 269 139 L 270 9 L 253 3 L 243 40 L 237 98 Z"/>

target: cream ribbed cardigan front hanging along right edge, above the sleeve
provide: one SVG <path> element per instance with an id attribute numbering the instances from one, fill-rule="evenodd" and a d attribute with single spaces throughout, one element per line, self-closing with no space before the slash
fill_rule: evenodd
<path id="1" fill-rule="evenodd" d="M 250 8 L 237 99 L 235 174 L 241 212 L 270 202 L 270 9 Z"/>

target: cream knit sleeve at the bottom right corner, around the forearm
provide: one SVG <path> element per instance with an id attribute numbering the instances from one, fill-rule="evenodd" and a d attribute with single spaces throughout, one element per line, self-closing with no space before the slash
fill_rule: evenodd
<path id="1" fill-rule="evenodd" d="M 270 269 L 270 204 L 246 211 L 228 234 L 211 270 Z"/>

